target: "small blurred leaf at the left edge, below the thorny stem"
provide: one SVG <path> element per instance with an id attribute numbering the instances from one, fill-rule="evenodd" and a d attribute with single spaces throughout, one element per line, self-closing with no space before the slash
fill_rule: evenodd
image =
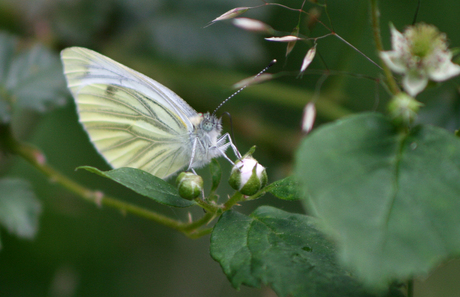
<path id="1" fill-rule="evenodd" d="M 32 239 L 38 230 L 40 201 L 22 179 L 0 180 L 0 223 L 19 237 Z"/>

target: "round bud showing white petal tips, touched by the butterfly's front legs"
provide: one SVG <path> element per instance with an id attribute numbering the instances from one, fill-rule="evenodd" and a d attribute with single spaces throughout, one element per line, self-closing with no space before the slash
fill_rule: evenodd
<path id="1" fill-rule="evenodd" d="M 241 194 L 251 196 L 265 187 L 268 177 L 265 167 L 248 156 L 235 163 L 228 182 Z"/>

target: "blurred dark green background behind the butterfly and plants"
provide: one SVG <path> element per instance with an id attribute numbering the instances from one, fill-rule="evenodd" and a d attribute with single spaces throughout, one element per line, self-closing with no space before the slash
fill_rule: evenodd
<path id="1" fill-rule="evenodd" d="M 299 8 L 302 1 L 279 3 Z M 0 0 L 0 29 L 15 34 L 25 45 L 40 42 L 56 53 L 67 46 L 91 48 L 158 80 L 196 110 L 212 111 L 233 92 L 232 84 L 259 72 L 274 58 L 279 62 L 270 72 L 297 71 L 309 48 L 299 43 L 286 59 L 286 45 L 264 41 L 268 36 L 245 32 L 229 22 L 204 28 L 229 9 L 260 4 L 254 0 Z M 328 5 L 334 30 L 376 60 L 367 1 L 328 1 Z M 390 49 L 388 23 L 399 30 L 411 24 L 417 1 L 387 0 L 380 5 L 384 44 Z M 321 20 L 329 25 L 324 9 L 308 1 L 304 9 L 312 7 L 322 11 Z M 423 2 L 418 20 L 436 25 L 452 47 L 460 47 L 458 12 L 458 0 Z M 298 13 L 276 6 L 250 10 L 244 16 L 287 33 L 298 20 Z M 306 27 L 304 20 L 301 32 L 306 35 L 328 33 L 320 24 L 312 33 Z M 321 39 L 317 49 L 329 69 L 381 75 L 337 38 Z M 317 55 L 310 69 L 325 68 Z M 294 73 L 251 86 L 221 110 L 232 114 L 241 152 L 257 145 L 255 157 L 268 168 L 271 181 L 291 172 L 301 138 L 302 110 L 320 77 L 305 74 L 300 79 Z M 420 121 L 458 129 L 458 82 L 454 79 L 418 97 L 426 105 Z M 317 94 L 316 125 L 349 113 L 384 111 L 388 100 L 374 81 L 348 75 L 328 77 Z M 52 166 L 89 188 L 185 219 L 184 210 L 159 206 L 101 177 L 75 171 L 81 165 L 108 166 L 89 143 L 70 95 L 68 99 L 45 114 L 21 111 L 15 132 L 41 148 Z M 229 131 L 228 121 L 224 122 Z M 228 172 L 230 166 L 220 163 Z M 150 221 L 88 204 L 17 158 L 6 176 L 31 181 L 43 213 L 31 241 L 1 230 L 0 296 L 274 296 L 268 288 L 235 291 L 209 256 L 209 236 L 190 240 Z M 228 192 L 223 182 L 221 196 Z M 271 204 L 304 212 L 299 203 L 268 196 L 246 204 L 238 210 L 249 214 L 259 204 Z M 460 296 L 459 276 L 458 262 L 446 263 L 416 283 L 415 296 Z"/>

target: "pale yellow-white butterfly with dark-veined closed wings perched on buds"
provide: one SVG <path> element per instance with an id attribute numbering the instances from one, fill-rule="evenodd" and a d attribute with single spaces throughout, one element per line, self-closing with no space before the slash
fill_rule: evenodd
<path id="1" fill-rule="evenodd" d="M 167 178 L 224 156 L 240 157 L 221 119 L 197 113 L 173 91 L 92 50 L 61 52 L 80 122 L 114 168 L 133 167 Z"/>

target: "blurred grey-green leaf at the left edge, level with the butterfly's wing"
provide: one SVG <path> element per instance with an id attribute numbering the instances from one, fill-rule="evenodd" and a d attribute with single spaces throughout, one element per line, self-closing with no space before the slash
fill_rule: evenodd
<path id="1" fill-rule="evenodd" d="M 17 52 L 16 43 L 16 38 L 0 33 L 0 121 L 4 123 L 16 107 L 44 112 L 63 105 L 68 94 L 56 54 L 40 45 Z"/>

